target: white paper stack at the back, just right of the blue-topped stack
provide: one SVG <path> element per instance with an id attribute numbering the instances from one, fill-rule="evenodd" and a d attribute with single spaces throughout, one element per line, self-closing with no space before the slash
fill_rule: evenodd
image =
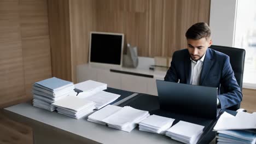
<path id="1" fill-rule="evenodd" d="M 92 81 L 92 80 L 80 82 L 75 84 L 74 86 L 76 89 L 79 89 L 81 92 L 83 92 L 83 94 L 81 94 L 83 95 L 83 97 L 88 97 L 97 92 L 103 91 L 104 89 L 107 89 L 106 83 L 101 83 L 101 82 Z"/>

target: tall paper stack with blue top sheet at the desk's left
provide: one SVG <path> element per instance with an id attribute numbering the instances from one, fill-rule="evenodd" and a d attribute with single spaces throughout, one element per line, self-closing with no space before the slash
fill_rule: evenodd
<path id="1" fill-rule="evenodd" d="M 33 106 L 54 111 L 55 107 L 51 104 L 68 95 L 77 94 L 73 89 L 73 82 L 61 80 L 56 77 L 36 82 L 32 88 Z"/>

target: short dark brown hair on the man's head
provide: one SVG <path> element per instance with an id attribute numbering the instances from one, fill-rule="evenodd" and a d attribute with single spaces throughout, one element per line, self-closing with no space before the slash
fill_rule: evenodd
<path id="1" fill-rule="evenodd" d="M 201 38 L 210 38 L 211 37 L 211 29 L 205 22 L 198 22 L 191 26 L 186 32 L 187 39 L 195 39 L 199 40 Z"/>

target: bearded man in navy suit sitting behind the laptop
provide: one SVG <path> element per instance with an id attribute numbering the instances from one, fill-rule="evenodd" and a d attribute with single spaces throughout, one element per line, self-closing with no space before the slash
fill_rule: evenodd
<path id="1" fill-rule="evenodd" d="M 211 29 L 207 23 L 195 23 L 185 36 L 187 49 L 173 53 L 165 81 L 179 81 L 190 85 L 218 87 L 218 89 L 222 85 L 224 93 L 220 94 L 218 90 L 218 106 L 226 109 L 239 104 L 242 93 L 231 68 L 229 56 L 208 48 L 212 45 L 212 39 Z"/>

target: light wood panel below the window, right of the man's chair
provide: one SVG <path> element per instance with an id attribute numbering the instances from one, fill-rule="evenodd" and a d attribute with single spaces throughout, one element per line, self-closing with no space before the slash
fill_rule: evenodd
<path id="1" fill-rule="evenodd" d="M 256 89 L 243 88 L 243 100 L 240 108 L 256 112 Z"/>

